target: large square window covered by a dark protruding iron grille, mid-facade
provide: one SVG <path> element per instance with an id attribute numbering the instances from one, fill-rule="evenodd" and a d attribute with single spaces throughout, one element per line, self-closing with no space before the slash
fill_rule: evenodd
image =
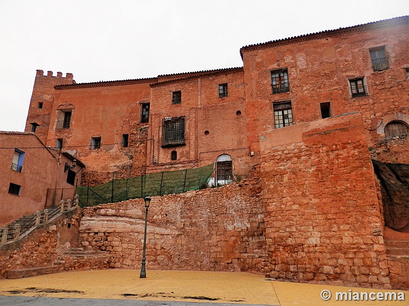
<path id="1" fill-rule="evenodd" d="M 185 116 L 162 119 L 162 147 L 184 144 Z"/>

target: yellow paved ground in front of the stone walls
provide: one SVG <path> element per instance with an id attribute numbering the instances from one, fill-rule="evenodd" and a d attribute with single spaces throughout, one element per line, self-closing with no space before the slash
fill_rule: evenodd
<path id="1" fill-rule="evenodd" d="M 352 292 L 392 292 L 392 290 L 273 282 L 262 275 L 240 272 L 148 270 L 147 278 L 139 278 L 139 272 L 139 270 L 110 269 L 64 272 L 21 279 L 0 279 L 0 305 L 77 305 L 80 303 L 82 305 L 119 305 L 122 303 L 142 306 L 209 302 L 304 306 L 349 304 L 352 301 L 336 301 L 335 292 L 348 293 L 350 289 Z M 333 294 L 328 301 L 323 300 L 320 296 L 324 289 Z M 53 299 L 22 299 L 15 298 L 16 296 L 53 297 Z M 405 301 L 369 300 L 353 301 L 353 303 L 408 305 L 409 291 L 404 291 L 404 296 Z M 112 300 L 108 302 L 107 299 Z M 122 300 L 122 302 L 113 300 Z M 129 302 L 123 300 L 129 300 Z M 168 302 L 149 303 L 148 301 Z"/>

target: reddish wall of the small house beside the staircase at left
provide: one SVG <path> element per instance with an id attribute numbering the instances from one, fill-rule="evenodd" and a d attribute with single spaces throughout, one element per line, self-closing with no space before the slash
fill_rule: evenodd
<path id="1" fill-rule="evenodd" d="M 65 156 L 54 157 L 44 148 L 34 134 L 18 132 L 1 132 L 0 144 L 10 149 L 0 150 L 0 225 L 8 224 L 22 217 L 41 210 L 46 205 L 47 190 L 56 188 L 74 188 L 66 183 L 65 163 L 72 161 Z M 25 152 L 21 172 L 11 168 L 14 148 Z M 74 170 L 80 170 L 77 166 Z M 77 174 L 80 182 L 81 172 Z M 21 186 L 20 194 L 8 193 L 10 183 Z"/>

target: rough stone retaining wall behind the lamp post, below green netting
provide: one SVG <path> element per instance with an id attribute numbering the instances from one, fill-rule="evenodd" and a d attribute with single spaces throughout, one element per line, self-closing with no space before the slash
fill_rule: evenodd
<path id="1" fill-rule="evenodd" d="M 152 197 L 147 269 L 264 273 L 266 242 L 259 186 Z M 84 208 L 81 245 L 113 255 L 111 267 L 141 267 L 145 207 L 142 199 Z"/>

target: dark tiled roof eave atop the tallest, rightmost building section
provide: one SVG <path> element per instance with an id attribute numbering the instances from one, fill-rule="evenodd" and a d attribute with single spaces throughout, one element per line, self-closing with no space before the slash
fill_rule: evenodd
<path id="1" fill-rule="evenodd" d="M 308 41 L 308 40 L 313 40 L 313 39 L 330 37 L 334 35 L 367 31 L 367 30 L 372 30 L 372 29 L 377 29 L 377 28 L 389 27 L 391 25 L 408 24 L 408 23 L 409 23 L 409 16 L 401 16 L 401 17 L 395 17 L 391 19 L 369 22 L 365 24 L 354 25 L 352 27 L 347 27 L 347 28 L 339 28 L 335 30 L 325 30 L 322 32 L 304 34 L 304 35 L 293 36 L 289 38 L 282 38 L 278 40 L 272 40 L 272 41 L 243 46 L 240 48 L 240 55 L 243 58 L 244 52 L 249 52 L 253 50 L 259 50 L 259 49 L 264 49 L 264 48 L 269 48 L 269 47 L 274 47 L 274 46 L 281 46 L 281 45 L 298 43 L 298 42 L 303 42 L 303 41 Z"/>

